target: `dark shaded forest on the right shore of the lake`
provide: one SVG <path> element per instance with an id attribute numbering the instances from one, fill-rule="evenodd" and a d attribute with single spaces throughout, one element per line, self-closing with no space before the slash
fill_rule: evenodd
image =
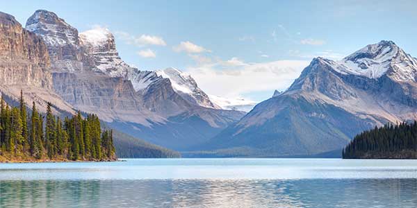
<path id="1" fill-rule="evenodd" d="M 366 130 L 343 149 L 344 159 L 416 159 L 417 121 Z"/>

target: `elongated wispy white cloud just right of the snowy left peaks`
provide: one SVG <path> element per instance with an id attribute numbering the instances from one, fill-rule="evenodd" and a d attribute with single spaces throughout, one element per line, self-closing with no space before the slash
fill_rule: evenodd
<path id="1" fill-rule="evenodd" d="M 147 46 L 147 45 L 157 45 L 157 46 L 166 46 L 165 40 L 162 37 L 155 35 L 140 35 L 134 36 L 129 33 L 117 31 L 115 32 L 117 37 L 120 37 L 126 44 L 132 44 L 136 46 Z"/>

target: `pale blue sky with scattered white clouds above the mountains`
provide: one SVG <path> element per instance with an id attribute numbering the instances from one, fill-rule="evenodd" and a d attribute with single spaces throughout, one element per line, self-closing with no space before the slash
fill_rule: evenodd
<path id="1" fill-rule="evenodd" d="M 417 56 L 417 1 L 4 1 L 22 24 L 37 9 L 79 30 L 108 28 L 122 59 L 175 67 L 207 94 L 263 101 L 311 59 L 340 60 L 393 40 Z"/>

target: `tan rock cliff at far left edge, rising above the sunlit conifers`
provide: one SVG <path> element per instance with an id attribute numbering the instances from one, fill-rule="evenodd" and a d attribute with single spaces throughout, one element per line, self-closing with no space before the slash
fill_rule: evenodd
<path id="1" fill-rule="evenodd" d="M 15 17 L 0 12 L 0 91 L 10 103 L 23 89 L 26 103 L 34 101 L 45 112 L 46 102 L 56 112 L 74 112 L 53 92 L 47 46 L 37 35 L 26 31 Z"/>

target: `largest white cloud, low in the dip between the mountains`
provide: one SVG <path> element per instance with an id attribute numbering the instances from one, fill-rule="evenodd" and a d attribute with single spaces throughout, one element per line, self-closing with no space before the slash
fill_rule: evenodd
<path id="1" fill-rule="evenodd" d="M 309 64 L 306 60 L 245 63 L 231 58 L 229 61 L 240 65 L 227 68 L 224 64 L 228 61 L 221 61 L 189 67 L 187 72 L 208 94 L 238 97 L 249 92 L 286 89 Z"/>

